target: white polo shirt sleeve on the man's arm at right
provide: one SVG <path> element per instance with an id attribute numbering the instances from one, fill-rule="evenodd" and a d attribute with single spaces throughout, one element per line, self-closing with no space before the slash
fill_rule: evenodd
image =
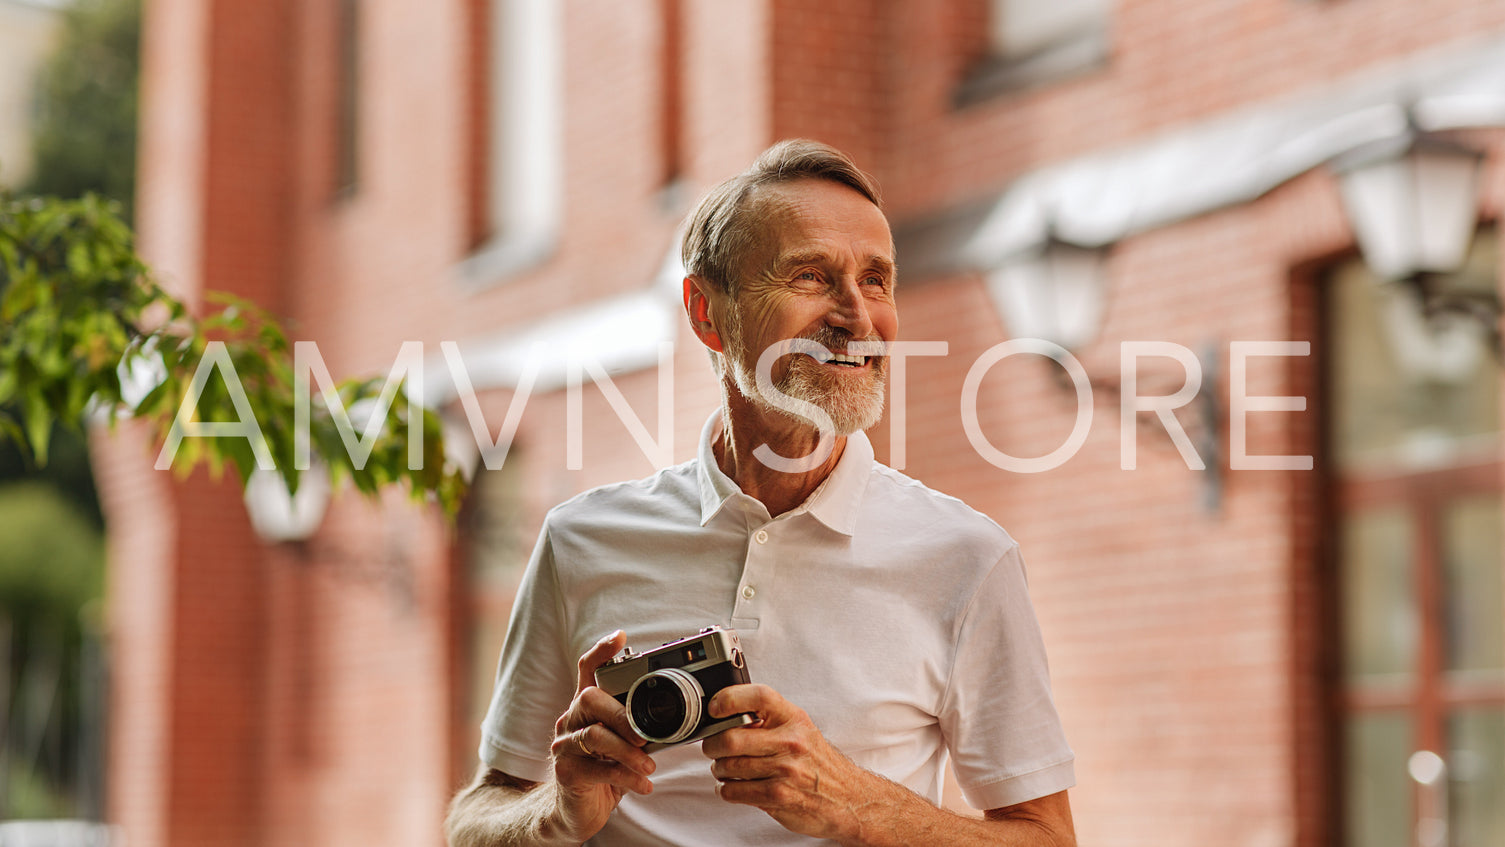
<path id="1" fill-rule="evenodd" d="M 1017 545 L 983 579 L 960 620 L 941 730 L 975 808 L 1022 803 L 1076 782 Z"/>

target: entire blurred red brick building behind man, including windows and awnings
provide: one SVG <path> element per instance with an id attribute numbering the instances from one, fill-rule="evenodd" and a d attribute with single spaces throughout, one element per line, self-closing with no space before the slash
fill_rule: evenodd
<path id="1" fill-rule="evenodd" d="M 154 471 L 129 429 L 99 441 L 132 844 L 441 841 L 543 510 L 688 457 L 718 400 L 676 317 L 677 223 L 795 135 L 883 187 L 901 334 L 947 354 L 909 360 L 903 438 L 891 414 L 874 442 L 1023 545 L 1081 842 L 1403 845 L 1442 817 L 1500 842 L 1505 2 L 154 0 L 146 21 L 137 215 L 170 286 L 263 302 L 336 376 L 421 342 L 467 442 L 455 342 L 489 438 L 521 417 L 456 527 L 343 493 L 295 543 L 259 540 L 233 484 Z M 1383 284 L 1329 161 L 1407 114 L 1482 153 L 1479 224 L 1461 268 Z M 1087 403 L 996 349 L 1057 241 L 1102 259 L 1057 337 Z M 1123 417 L 1187 369 L 1174 421 Z M 1446 763 L 1430 787 L 1421 749 Z"/>

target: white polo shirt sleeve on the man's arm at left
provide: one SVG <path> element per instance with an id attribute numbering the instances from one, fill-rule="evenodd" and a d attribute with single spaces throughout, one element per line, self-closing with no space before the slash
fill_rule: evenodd
<path id="1" fill-rule="evenodd" d="M 482 721 L 480 760 L 504 773 L 549 776 L 554 722 L 575 697 L 576 660 L 545 522 L 512 606 L 491 707 Z"/>

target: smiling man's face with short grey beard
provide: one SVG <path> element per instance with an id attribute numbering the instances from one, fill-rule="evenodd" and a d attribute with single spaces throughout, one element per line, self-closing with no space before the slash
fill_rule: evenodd
<path id="1" fill-rule="evenodd" d="M 820 179 L 760 190 L 763 232 L 743 257 L 725 320 L 727 363 L 740 393 L 772 409 L 757 387 L 759 357 L 789 338 L 819 342 L 837 357 L 793 354 L 774 363 L 781 393 L 823 409 L 837 435 L 877 423 L 888 360 L 846 355 L 849 342 L 892 342 L 894 241 L 865 197 Z"/>

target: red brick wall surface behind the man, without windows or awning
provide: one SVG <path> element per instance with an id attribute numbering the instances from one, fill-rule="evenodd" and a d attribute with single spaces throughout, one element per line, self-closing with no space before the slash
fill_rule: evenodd
<path id="1" fill-rule="evenodd" d="M 141 239 L 185 293 L 232 289 L 293 320 L 336 376 L 385 372 L 405 340 L 436 352 L 534 325 L 567 304 L 646 287 L 698 193 L 775 137 L 850 150 L 894 221 L 996 194 L 1028 168 L 1114 149 L 1364 66 L 1505 30 L 1505 3 L 1145 0 L 1118 5 L 1112 56 L 1058 84 L 957 108 L 980 51 L 981 0 L 683 3 L 683 185 L 662 185 L 664 5 L 564 5 L 567 162 L 561 239 L 542 263 L 480 287 L 456 271 L 476 238 L 474 2 L 361 5 L 360 175 L 331 193 L 336 0 L 147 14 Z M 1442 47 L 1437 47 L 1442 45 Z M 1485 212 L 1497 215 L 1505 138 Z M 1023 545 L 1057 697 L 1079 757 L 1084 844 L 1324 842 L 1315 718 L 1320 477 L 1190 471 L 1150 421 L 1120 469 L 1118 343 L 1309 338 L 1311 268 L 1351 250 L 1330 176 L 1127 238 L 1081 351 L 1102 385 L 1084 448 L 1044 474 L 989 465 L 962 429 L 968 369 L 1005 329 L 980 280 L 906 278 L 906 471 Z M 1318 352 L 1320 355 L 1320 352 Z M 1145 360 L 1145 390 L 1180 372 Z M 616 385 L 656 432 L 658 378 Z M 1251 393 L 1314 397 L 1311 363 L 1258 360 Z M 492 432 L 510 394 L 483 397 Z M 680 331 L 674 456 L 718 402 Z M 1255 453 L 1311 453 L 1314 412 L 1257 414 Z M 1227 412 L 1227 400 L 1222 403 Z M 981 382 L 978 420 L 1019 456 L 1054 450 L 1075 403 L 1038 361 Z M 534 396 L 516 438 L 528 531 L 543 510 L 647 460 L 587 390 L 585 466 L 566 468 L 564 394 Z M 1183 421 L 1190 418 L 1183 414 Z M 888 423 L 873 433 L 892 451 Z M 101 439 L 111 525 L 117 686 L 111 817 L 140 844 L 438 844 L 444 803 L 474 766 L 465 715 L 465 539 L 400 496 L 336 499 L 307 545 L 250 536 L 230 484 L 149 469 L 144 433 Z M 1227 447 L 1227 436 L 1221 441 Z"/>

